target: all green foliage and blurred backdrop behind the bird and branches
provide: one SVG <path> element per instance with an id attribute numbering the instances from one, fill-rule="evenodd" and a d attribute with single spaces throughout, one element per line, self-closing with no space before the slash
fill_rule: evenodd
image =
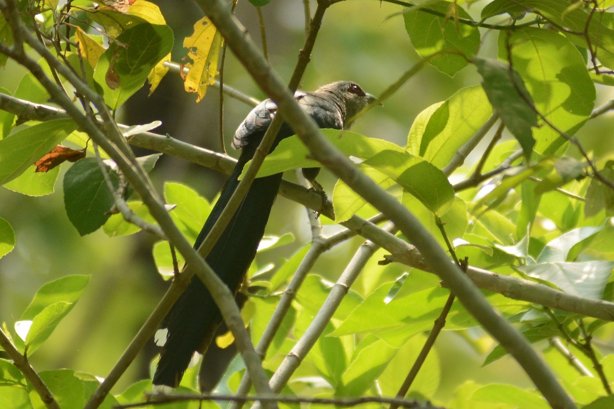
<path id="1" fill-rule="evenodd" d="M 66 2 L 54 1 L 0 2 L 3 47 L 0 52 L 14 47 L 12 30 L 17 22 L 31 32 L 35 32 L 36 26 L 49 50 L 65 55 L 61 63 L 72 64 L 80 74 L 75 42 L 87 44 L 87 40 L 76 39 L 79 26 L 84 36 L 101 44 L 98 56 L 102 59 L 90 59 L 91 55 L 84 59 L 85 76 L 90 87 L 104 95 L 117 123 L 161 121 L 153 132 L 220 151 L 217 90 L 209 87 L 202 101 L 195 104 L 195 94 L 185 92 L 176 71 L 161 78 L 150 96 L 150 86 L 144 83 L 150 69 L 169 52 L 171 61 L 182 62 L 187 51 L 184 38 L 192 36 L 196 21 L 204 16 L 202 4 L 153 3 L 160 7 L 160 13 L 131 15 L 127 6 L 98 9 L 98 14 L 107 10 L 113 17 L 109 20 L 113 21 L 122 21 L 118 15 L 126 15 L 126 21 L 133 22 L 135 15 L 143 18 L 145 22 L 139 20 L 137 26 L 147 26 L 150 32 L 142 29 L 142 35 L 161 39 L 160 48 L 149 55 L 151 66 L 142 72 L 131 72 L 130 78 L 136 78 L 136 85 L 130 97 L 115 95 L 117 91 L 110 85 L 107 71 L 109 60 L 115 57 L 111 52 L 102 53 L 103 48 L 130 44 L 130 39 L 119 38 L 126 27 L 118 29 L 114 23 L 96 17 L 97 12 L 90 9 L 91 2 L 69 2 L 71 7 Z M 266 49 L 274 71 L 287 80 L 305 42 L 304 4 L 292 0 L 253 3 L 238 2 L 235 15 L 261 49 Z M 421 6 L 392 3 L 336 2 L 327 8 L 317 33 L 300 88 L 313 90 L 341 79 L 356 81 L 366 91 L 382 97 L 384 106 L 365 113 L 352 131 L 397 145 L 378 145 L 372 139 L 361 139 L 354 143 L 356 146 L 341 148 L 348 155 L 366 159 L 367 165 L 360 169 L 416 213 L 445 246 L 433 213 L 440 216 L 457 258 L 466 256 L 469 266 L 530 280 L 546 289 L 562 289 L 586 300 L 589 310 L 605 311 L 605 315 L 612 312 L 608 303 L 612 301 L 610 275 L 614 254 L 609 218 L 614 174 L 612 162 L 608 162 L 613 149 L 609 112 L 613 104 L 608 102 L 614 85 L 614 20 L 608 9 L 612 2 L 428 1 Z M 136 6 L 156 10 L 142 0 L 130 7 Z M 317 4 L 311 7 L 313 14 Z M 164 20 L 152 21 L 152 15 L 160 18 L 158 14 Z M 16 15 L 19 18 L 11 20 Z M 61 24 L 64 26 L 58 31 Z M 66 27 L 71 27 L 68 48 L 66 39 L 58 35 L 66 33 Z M 134 41 L 139 44 L 137 39 Z M 31 45 L 25 48 L 34 61 L 41 60 L 49 73 L 47 63 Z M 429 63 L 424 63 L 424 58 Z M 6 64 L 0 75 L 2 94 L 53 105 L 49 91 L 20 64 L 23 61 L 18 55 L 0 61 Z M 107 65 L 96 67 L 100 61 Z M 411 69 L 414 71 L 407 75 Z M 66 84 L 62 75 L 58 78 Z M 206 74 L 203 78 L 209 79 Z M 257 80 L 247 74 L 241 60 L 228 50 L 223 82 L 245 95 L 264 99 L 266 94 Z M 69 97 L 76 94 L 77 98 L 82 97 L 71 86 L 65 86 Z M 82 109 L 80 103 L 77 105 Z M 34 129 L 34 140 L 49 138 L 56 132 L 57 140 L 52 146 L 71 134 L 63 145 L 84 148 L 87 136 L 72 132 L 76 126 L 71 121 L 60 124 L 59 130 L 36 131 L 37 126 L 49 125 L 39 124 L 34 120 L 37 117 L 28 114 L 16 118 L 6 101 L 0 109 L 3 131 L 0 176 L 4 184 L 0 193 L 0 248 L 1 254 L 6 254 L 0 259 L 0 318 L 6 323 L 4 332 L 12 336 L 21 353 L 24 341 L 30 345 L 28 360 L 50 384 L 60 406 L 82 407 L 96 381 L 58 369 L 106 377 L 168 287 L 168 282 L 156 273 L 157 267 L 169 271 L 168 257 L 161 255 L 161 249 L 168 246 L 156 247 L 154 261 L 152 247 L 158 239 L 152 234 L 137 233 L 134 229 L 134 234 L 124 235 L 126 231 L 121 229 L 127 227 L 121 223 L 119 214 L 105 223 L 105 213 L 112 205 L 112 199 L 108 202 L 109 194 L 102 202 L 95 195 L 87 203 L 74 200 L 91 183 L 85 180 L 85 185 L 79 185 L 79 176 L 98 169 L 92 143 L 87 144 L 87 158 L 74 164 L 66 162 L 46 173 L 34 174 L 33 162 L 41 155 L 32 158 L 26 167 L 12 160 L 21 158 L 15 153 L 21 145 L 20 142 L 10 145 L 7 141 L 27 136 L 27 129 Z M 222 122 L 227 145 L 236 125 L 250 109 L 244 102 L 224 98 Z M 500 120 L 492 117 L 493 112 L 503 118 L 505 129 L 497 130 Z M 456 162 L 456 166 L 449 167 L 450 162 L 456 161 L 454 153 L 462 151 L 474 135 L 480 134 L 487 121 L 491 121 L 485 129 L 488 132 L 482 135 L 464 164 Z M 575 137 L 581 148 L 570 143 L 568 136 Z M 334 135 L 330 139 L 336 138 Z M 300 142 L 293 142 L 297 151 Z M 282 148 L 275 155 L 282 155 Z M 134 149 L 137 156 L 153 153 Z M 369 155 L 361 157 L 356 151 L 359 149 L 363 155 L 365 151 Z M 403 152 L 413 156 L 410 159 Z M 397 153 L 405 156 L 401 158 Z M 228 154 L 236 155 L 231 149 Z M 506 162 L 510 155 L 514 155 L 514 160 Z M 403 174 L 420 163 L 418 157 L 434 166 L 413 168 Z M 294 159 L 277 164 L 275 169 L 299 166 L 297 161 L 302 158 Z M 267 166 L 270 164 L 265 162 L 263 170 Z M 474 172 L 476 166 L 480 169 Z M 445 169 L 446 174 L 435 168 Z M 188 240 L 193 240 L 206 218 L 205 201 L 214 201 L 224 175 L 171 155 L 160 156 L 153 169 L 148 170 L 157 191 L 165 194 L 169 204 L 177 205 L 171 215 Z M 489 177 L 470 178 L 491 171 Z M 296 182 L 293 172 L 286 172 L 286 178 Z M 97 180 L 101 181 L 99 177 Z M 337 222 L 354 213 L 364 218 L 376 213 L 368 206 L 355 207 L 356 198 L 343 196 L 347 188 L 336 183 L 337 178 L 330 172 L 322 172 L 319 180 L 333 199 Z M 454 186 L 454 192 L 452 186 L 456 183 L 465 185 Z M 106 189 L 102 183 L 99 186 Z M 138 201 L 138 196 L 130 200 Z M 99 210 L 80 212 L 91 204 L 99 205 Z M 251 319 L 255 338 L 268 321 L 280 291 L 305 256 L 305 246 L 311 240 L 309 212 L 285 198 L 276 201 L 273 215 L 283 217 L 271 217 L 267 234 L 283 238 L 273 248 L 258 254 L 250 274 L 252 284 L 261 287 L 252 297 L 251 309 L 244 314 Z M 138 214 L 153 223 L 144 207 Z M 101 218 L 101 223 L 96 224 L 95 220 Z M 324 224 L 325 236 L 342 229 L 325 216 L 319 220 Z M 276 370 L 318 312 L 330 285 L 363 242 L 361 237 L 351 237 L 317 259 L 265 361 L 265 369 Z M 449 290 L 441 288 L 436 275 L 399 262 L 379 266 L 378 261 L 387 254 L 389 250 L 378 250 L 367 262 L 325 331 L 326 334 L 334 331 L 333 335 L 320 338 L 293 375 L 287 393 L 324 397 L 397 394 Z M 72 275 L 90 278 L 65 278 Z M 31 301 L 37 290 L 58 278 L 66 281 L 60 281 L 61 285 L 55 288 L 45 287 L 57 297 L 45 299 L 39 292 L 33 307 Z M 273 285 L 266 284 L 271 281 Z M 510 298 L 493 291 L 483 292 L 508 321 L 526 332 L 534 349 L 578 406 L 611 406 L 612 392 L 606 385 L 614 381 L 610 355 L 612 326 L 607 324 L 612 319 L 604 318 L 604 313 L 587 316 L 565 302 L 552 305 L 544 301 L 544 307 L 535 300 L 529 302 L 518 297 L 523 292 L 532 296 L 534 291 L 537 291 L 534 287 L 519 292 L 503 289 L 503 295 Z M 605 302 L 599 304 L 596 300 Z M 15 323 L 33 320 L 37 313 L 58 301 L 67 305 L 46 318 L 43 335 L 20 341 Z M 450 408 L 548 407 L 523 369 L 500 346 L 496 347 L 498 343 L 458 301 L 454 302 L 444 330 L 422 365 L 410 397 Z M 570 364 L 565 350 L 577 362 Z M 113 395 L 149 378 L 155 351 L 153 342 L 143 348 L 112 389 Z M 484 362 L 488 365 L 483 365 Z M 603 365 L 601 369 L 599 364 Z M 41 402 L 34 397 L 36 392 L 31 385 L 26 385 L 23 376 L 15 375 L 8 361 L 2 361 L 2 365 L 0 373 L 5 375 L 0 377 L 0 406 L 39 407 Z M 230 380 L 223 380 L 220 391 L 236 390 L 240 373 L 235 372 L 239 370 L 243 366 L 237 358 L 228 373 Z M 76 386 L 74 379 L 87 381 Z M 186 377 L 185 386 L 195 388 L 194 378 Z M 143 400 L 142 391 L 148 388 L 149 384 L 139 383 L 117 401 Z M 79 393 L 80 400 L 71 395 Z M 590 405 L 605 396 L 609 396 L 609 403 L 602 400 Z"/>

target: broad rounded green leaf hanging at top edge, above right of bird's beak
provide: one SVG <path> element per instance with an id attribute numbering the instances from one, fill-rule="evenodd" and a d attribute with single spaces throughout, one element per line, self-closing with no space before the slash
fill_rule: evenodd
<path id="1" fill-rule="evenodd" d="M 435 10 L 441 15 L 427 13 L 424 9 Z M 451 15 L 448 16 L 448 13 Z M 457 16 L 454 15 L 457 13 Z M 438 52 L 442 53 L 430 61 L 430 64 L 444 74 L 454 75 L 468 64 L 478 48 L 480 48 L 480 31 L 466 24 L 457 24 L 456 17 L 471 20 L 470 15 L 456 3 L 446 1 L 429 1 L 424 7 L 405 9 L 403 18 L 405 29 L 411 39 L 411 44 L 422 57 L 428 57 Z M 460 54 L 460 55 L 459 55 Z"/>

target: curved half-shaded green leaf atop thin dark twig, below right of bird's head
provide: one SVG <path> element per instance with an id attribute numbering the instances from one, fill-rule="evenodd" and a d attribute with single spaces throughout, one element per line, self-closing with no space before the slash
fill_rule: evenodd
<path id="1" fill-rule="evenodd" d="M 431 212 L 444 215 L 454 201 L 448 178 L 429 162 L 405 152 L 384 150 L 363 162 L 393 178 Z"/>

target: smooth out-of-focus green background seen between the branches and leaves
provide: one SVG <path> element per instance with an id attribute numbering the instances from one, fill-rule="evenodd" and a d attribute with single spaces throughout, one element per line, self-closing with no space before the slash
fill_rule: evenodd
<path id="1" fill-rule="evenodd" d="M 173 60 L 181 62 L 184 53 L 182 38 L 192 34 L 193 23 L 202 17 L 202 13 L 190 1 L 153 2 L 160 6 L 174 30 L 176 47 Z M 468 7 L 468 12 L 479 14 L 479 4 Z M 311 7 L 312 11 L 315 10 L 315 2 Z M 369 93 L 381 94 L 419 61 L 406 34 L 402 16 L 391 17 L 400 10 L 400 6 L 375 0 L 349 0 L 330 7 L 301 88 L 313 90 L 324 83 L 347 79 L 358 82 Z M 305 37 L 303 2 L 273 0 L 262 8 L 262 13 L 271 65 L 287 80 Z M 260 44 L 254 6 L 239 1 L 236 15 L 255 42 Z M 479 20 L 478 16 L 474 17 Z M 482 31 L 481 34 L 484 45 L 480 55 L 494 58 L 497 33 Z M 0 86 L 14 91 L 23 74 L 21 67 L 9 63 L 0 72 Z M 230 52 L 224 67 L 224 81 L 245 94 L 258 99 L 265 97 Z M 388 99 L 383 108 L 372 110 L 359 120 L 353 130 L 405 145 L 413 118 L 421 110 L 448 98 L 463 86 L 479 82 L 472 66 L 454 78 L 426 67 Z M 146 88 L 133 96 L 119 112 L 121 123 L 161 120 L 163 125 L 155 132 L 168 133 L 212 150 L 220 149 L 217 90 L 210 88 L 204 100 L 195 104 L 195 95 L 185 93 L 181 78 L 173 74 L 164 78 L 151 97 L 147 97 Z M 597 105 L 612 97 L 609 89 L 599 88 Z M 225 98 L 223 128 L 227 143 L 250 109 L 241 102 Z M 611 130 L 608 126 L 610 120 L 611 115 L 604 115 L 590 121 L 578 133 L 587 150 L 596 151 L 600 158 L 609 156 L 613 148 L 610 141 L 600 137 Z M 138 153 L 144 155 L 147 152 Z M 233 151 L 229 153 L 236 155 Z M 64 164 L 61 172 L 66 169 L 68 165 Z M 152 177 L 158 188 L 165 181 L 178 181 L 192 186 L 207 199 L 217 194 L 225 180 L 224 175 L 166 156 L 158 161 Z M 292 174 L 287 177 L 293 179 Z M 327 191 L 332 192 L 335 180 L 330 174 L 322 172 L 319 180 Z M 273 209 L 275 214 L 283 217 L 273 216 L 267 232 L 278 235 L 293 232 L 297 240 L 275 252 L 258 256 L 260 264 L 289 257 L 309 239 L 305 209 L 279 198 Z M 104 377 L 168 285 L 161 280 L 153 264 L 152 237 L 139 233 L 109 238 L 101 231 L 79 237 L 64 212 L 60 182 L 56 183 L 55 194 L 44 197 L 23 196 L 0 188 L 0 215 L 9 221 L 17 235 L 15 249 L 0 259 L 0 319 L 12 326 L 34 292 L 44 283 L 69 274 L 90 274 L 90 285 L 79 303 L 33 356 L 32 364 L 37 370 L 67 367 Z M 334 226 L 326 229 L 327 232 L 335 230 Z M 360 243 L 360 239 L 354 239 L 325 254 L 314 272 L 335 280 Z M 403 267 L 399 266 L 398 272 L 403 272 Z M 467 337 L 452 332 L 445 332 L 438 339 L 442 379 L 436 397 L 449 399 L 456 386 L 470 379 L 478 383 L 501 381 L 530 386 L 518 366 L 508 358 L 481 368 L 485 355 L 476 350 L 488 353 L 493 345 L 489 338 L 481 338 L 483 334 L 479 330 L 470 331 L 468 335 L 473 345 Z M 134 380 L 147 377 L 149 361 L 154 355 L 155 347 L 150 343 L 114 391 L 120 392 Z"/>

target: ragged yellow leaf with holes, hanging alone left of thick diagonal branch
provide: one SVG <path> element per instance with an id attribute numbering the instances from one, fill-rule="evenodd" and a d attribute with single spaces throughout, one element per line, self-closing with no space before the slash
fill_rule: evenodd
<path id="1" fill-rule="evenodd" d="M 190 71 L 184 77 L 185 91 L 196 93 L 196 102 L 203 99 L 207 86 L 215 82 L 217 59 L 222 47 L 222 36 L 209 18 L 196 21 L 194 34 L 185 37 L 184 47 L 188 49 L 184 66 Z"/>

